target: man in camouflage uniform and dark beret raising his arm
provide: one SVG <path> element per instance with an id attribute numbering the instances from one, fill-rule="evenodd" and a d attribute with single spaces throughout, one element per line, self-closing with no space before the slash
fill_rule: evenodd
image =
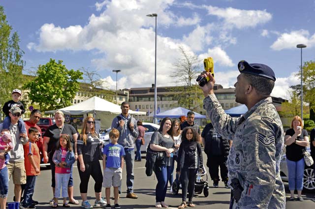
<path id="1" fill-rule="evenodd" d="M 280 160 L 284 148 L 284 130 L 272 104 L 271 91 L 276 77 L 265 64 L 238 63 L 240 75 L 235 83 L 235 101 L 248 108 L 240 118 L 225 114 L 214 94 L 214 77 L 200 87 L 203 103 L 216 130 L 233 140 L 228 157 L 228 185 L 231 209 L 285 208 L 284 184 L 280 178 Z"/>

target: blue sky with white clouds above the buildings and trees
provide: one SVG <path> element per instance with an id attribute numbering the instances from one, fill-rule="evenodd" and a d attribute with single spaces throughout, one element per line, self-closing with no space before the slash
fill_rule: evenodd
<path id="1" fill-rule="evenodd" d="M 26 69 L 63 60 L 68 69 L 97 70 L 106 86 L 148 87 L 154 83 L 155 19 L 158 14 L 157 85 L 175 86 L 169 75 L 178 47 L 200 60 L 213 57 L 217 84 L 232 87 L 237 63 L 269 65 L 274 96 L 288 98 L 299 83 L 303 60 L 315 60 L 315 0 L 2 0 L 18 31 Z M 313 25 L 313 26 L 312 26 Z M 202 62 L 200 62 L 202 67 Z M 202 70 L 202 68 L 200 68 Z M 180 73 L 180 72 L 178 72 Z"/>

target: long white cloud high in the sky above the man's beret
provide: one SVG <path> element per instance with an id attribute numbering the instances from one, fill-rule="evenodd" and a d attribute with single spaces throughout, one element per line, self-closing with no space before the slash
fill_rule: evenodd
<path id="1" fill-rule="evenodd" d="M 208 9 L 209 15 L 218 16 L 224 20 L 226 27 L 243 29 L 264 24 L 272 19 L 272 14 L 266 10 L 243 10 L 235 8 L 219 8 L 216 6 L 204 6 Z"/>

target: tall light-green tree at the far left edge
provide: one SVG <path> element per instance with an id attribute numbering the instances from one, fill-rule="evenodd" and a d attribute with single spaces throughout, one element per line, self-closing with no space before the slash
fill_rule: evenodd
<path id="1" fill-rule="evenodd" d="M 6 20 L 4 9 L 0 6 L 0 105 L 11 99 L 11 91 L 23 84 L 22 70 L 25 61 L 20 48 L 17 32 L 11 35 L 12 27 Z M 11 35 L 11 36 L 10 36 Z"/>

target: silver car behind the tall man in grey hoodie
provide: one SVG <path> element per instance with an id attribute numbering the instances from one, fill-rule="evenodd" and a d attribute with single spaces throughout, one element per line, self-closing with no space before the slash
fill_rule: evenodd
<path id="1" fill-rule="evenodd" d="M 152 134 L 159 129 L 159 125 L 151 122 L 143 122 L 143 127 L 146 128 L 146 132 L 144 133 L 144 141 L 145 144 L 141 146 L 141 152 L 147 152 L 147 147 L 149 142 L 151 141 Z M 103 142 L 103 145 L 109 144 L 109 136 L 108 133 L 111 129 L 107 129 L 105 134 L 100 134 L 100 140 Z M 134 144 L 134 149 L 136 150 L 136 145 Z"/>

